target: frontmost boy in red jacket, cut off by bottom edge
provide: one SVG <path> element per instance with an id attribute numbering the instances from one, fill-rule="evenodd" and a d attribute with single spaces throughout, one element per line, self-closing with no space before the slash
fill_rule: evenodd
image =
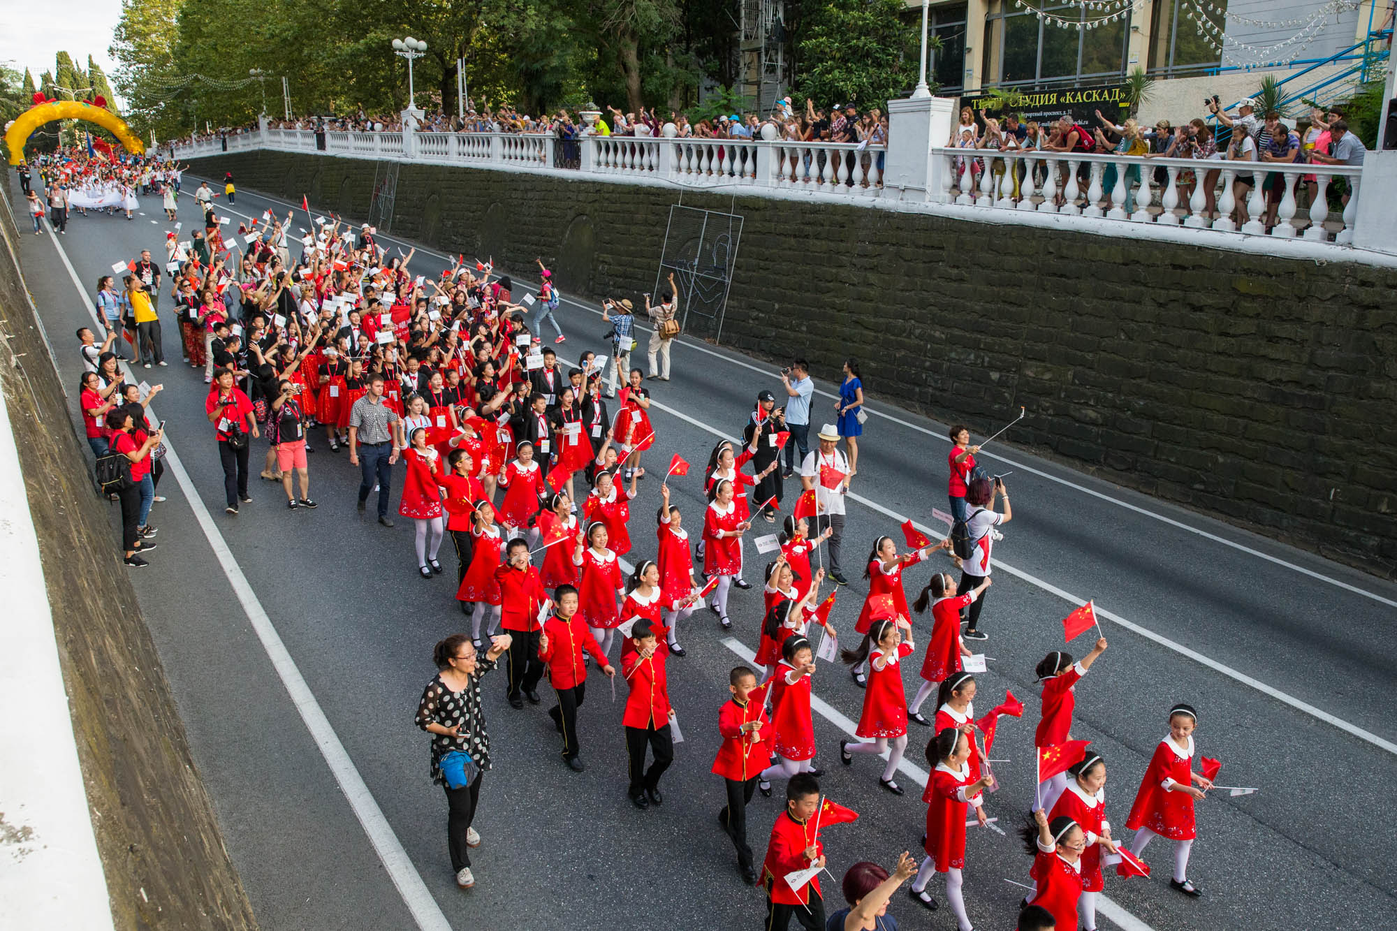
<path id="1" fill-rule="evenodd" d="M 796 773 L 787 783 L 787 809 L 777 815 L 761 863 L 761 885 L 767 890 L 767 931 L 787 931 L 791 918 L 806 931 L 824 931 L 824 899 L 816 874 L 799 890 L 785 881 L 788 874 L 824 867 L 824 844 L 813 823 L 820 809 L 820 783 L 810 773 Z"/>

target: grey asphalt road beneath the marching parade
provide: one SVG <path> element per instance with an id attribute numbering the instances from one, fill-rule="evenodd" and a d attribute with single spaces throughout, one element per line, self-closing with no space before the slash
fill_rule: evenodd
<path id="1" fill-rule="evenodd" d="M 197 222 L 189 197 L 196 185 L 186 176 L 186 226 Z M 144 214 L 131 222 L 78 217 L 56 238 L 88 295 L 113 261 L 133 259 L 142 247 L 159 254 L 169 224 L 158 199 L 141 203 Z M 268 205 L 288 207 L 239 192 L 228 210 L 239 217 Z M 71 333 L 91 323 L 88 309 L 49 233 L 21 239 L 64 383 L 75 387 L 80 359 Z M 443 256 L 422 250 L 414 260 L 419 273 L 443 267 Z M 532 275 L 524 268 L 514 280 Z M 566 295 L 567 282 L 559 285 Z M 427 779 L 427 738 L 412 724 L 420 689 L 434 671 L 432 644 L 464 626 L 451 583 L 416 576 L 409 521 L 387 530 L 359 519 L 358 470 L 323 439 L 312 457 L 319 510 L 288 512 L 279 486 L 254 475 L 256 500 L 237 517 L 222 514 L 222 474 L 203 415 L 205 389 L 201 373 L 179 363 L 168 309 L 166 296 L 170 368 L 138 373 L 165 384 L 155 407 L 168 419 L 203 507 L 176 475 L 166 475 L 161 492 L 169 500 L 156 505 L 151 519 L 161 549 L 151 556 L 152 568 L 137 573 L 136 586 L 263 927 L 648 928 L 671 927 L 676 918 L 694 928 L 760 927 L 763 900 L 742 886 L 731 844 L 714 823 L 724 790 L 708 772 L 728 670 L 757 642 L 756 554 L 749 549 L 754 589 L 733 591 L 735 643 L 726 643 L 704 612 L 682 632 L 689 656 L 671 660 L 671 693 L 687 741 L 676 748 L 659 809 L 640 812 L 626 800 L 623 696 L 613 705 L 605 682 L 594 679 L 581 712 L 588 769 L 576 774 L 557 759 L 546 705 L 515 712 L 504 700 L 503 674 L 486 679 L 495 767 L 476 818 L 485 839 L 474 856 L 478 885 L 464 893 L 446 856 L 444 798 Z M 742 313 L 740 295 L 733 295 L 729 313 Z M 557 316 L 569 335 L 563 358 L 602 348 L 605 327 L 595 308 L 564 301 Z M 638 335 L 643 349 L 648 334 Z M 773 345 L 799 348 L 777 333 Z M 633 362 L 643 365 L 641 356 L 633 355 Z M 739 433 L 756 393 L 778 390 L 780 382 L 770 362 L 687 337 L 675 347 L 673 379 L 648 383 L 658 435 L 650 464 L 671 453 L 696 464 L 687 478 L 672 481 L 675 502 L 693 524 L 701 510 L 697 466 L 718 435 Z M 817 387 L 824 396 L 816 397 L 816 421 L 834 391 L 828 382 Z M 944 425 L 901 411 L 895 394 L 869 387 L 873 417 L 845 527 L 852 584 L 841 590 L 833 618 L 842 628 L 852 626 L 865 591 L 851 568 L 872 541 L 897 535 L 904 516 L 937 528 L 930 510 L 946 509 Z M 75 390 L 71 400 L 77 418 Z M 1004 419 L 1011 417 L 1006 412 Z M 975 424 L 972 431 L 981 438 L 999 426 Z M 264 449 L 254 443 L 254 468 Z M 1074 732 L 1106 759 L 1112 822 L 1123 825 L 1164 735 L 1165 713 L 1180 700 L 1200 712 L 1199 748 L 1224 762 L 1220 781 L 1261 788 L 1241 798 L 1215 793 L 1200 805 L 1189 875 L 1204 889 L 1203 899 L 1168 888 L 1169 850 L 1154 844 L 1146 851 L 1153 879 L 1108 878 L 1106 896 L 1120 920 L 1108 920 L 1104 910 L 1101 927 L 1389 927 L 1397 914 L 1397 881 L 1389 868 L 1397 861 L 1397 808 L 1390 802 L 1397 788 L 1397 719 L 1390 710 L 1397 698 L 1397 586 L 1102 482 L 1011 442 L 999 446 L 997 456 L 1004 461 L 992 461 L 995 471 L 1014 472 L 1007 478 L 1014 520 L 995 548 L 996 563 L 1004 562 L 996 566 L 982 618 L 990 633 L 983 650 L 995 661 L 979 677 L 979 710 L 1007 688 L 1025 699 L 1028 712 L 1000 728 L 995 756 L 1010 762 L 997 766 L 1004 784 L 988 802 L 989 812 L 1013 826 L 1032 801 L 1032 667 L 1063 647 L 1059 621 L 1073 607 L 1067 598 L 1090 597 L 1104 615 L 1111 649 L 1077 688 Z M 793 500 L 792 482 L 787 493 Z M 637 556 L 652 555 L 648 514 L 658 502 L 658 481 L 643 481 L 631 524 Z M 113 542 L 119 523 L 113 509 Z M 760 521 L 757 533 L 766 533 Z M 225 572 L 229 566 L 235 579 L 246 579 L 242 597 Z M 926 576 L 925 568 L 907 573 L 909 596 Z M 258 636 L 249 616 L 249 596 L 285 646 L 279 664 L 264 646 L 267 628 Z M 919 622 L 919 642 L 926 632 Z M 1069 649 L 1084 653 L 1088 640 Z M 295 699 L 288 660 L 307 686 Z M 911 665 L 908 693 L 919 684 L 919 663 Z M 891 865 L 901 850 L 918 853 L 925 807 L 914 791 L 915 770 L 900 776 L 908 793 L 894 798 L 877 786 L 882 765 L 856 759 L 851 769 L 841 767 L 840 723 L 858 720 L 862 692 L 842 665 L 821 663 L 816 695 L 828 705 L 828 714 L 816 716 L 816 762 L 828 770 L 823 787 L 861 812 L 856 823 L 824 832 L 831 871 L 842 875 L 858 860 Z M 307 717 L 321 721 L 317 735 L 307 730 Z M 337 741 L 327 741 L 327 732 Z M 908 763 L 923 770 L 918 744 L 928 737 L 914 724 Z M 327 742 L 342 746 L 345 756 L 326 749 Z M 759 857 L 780 807 L 778 787 L 773 798 L 757 795 L 749 808 Z M 370 809 L 383 819 L 369 818 L 377 846 L 360 821 Z M 401 843 L 405 858 L 397 860 L 391 844 L 386 850 L 384 837 Z M 1028 865 L 1016 840 L 971 832 L 965 899 L 977 928 L 1014 925 L 1023 889 L 1006 879 L 1027 882 Z M 833 910 L 837 883 L 826 882 Z M 943 885 L 933 881 L 930 889 L 940 897 Z M 905 897 L 893 909 L 902 927 L 954 927 L 946 909 L 928 914 Z M 444 923 L 437 923 L 441 916 Z"/>

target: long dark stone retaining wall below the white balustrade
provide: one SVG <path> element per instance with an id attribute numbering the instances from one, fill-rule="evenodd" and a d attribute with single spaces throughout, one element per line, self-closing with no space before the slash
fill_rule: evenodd
<path id="1" fill-rule="evenodd" d="M 194 166 L 349 217 L 367 215 L 374 169 L 268 151 Z M 402 165 L 391 231 L 524 277 L 543 256 L 564 294 L 620 296 L 654 285 L 672 203 Z M 827 377 L 856 355 L 875 404 L 975 429 L 1024 405 L 1018 442 L 1397 573 L 1397 271 L 859 207 L 683 203 L 745 217 L 725 344 L 799 351 Z"/>

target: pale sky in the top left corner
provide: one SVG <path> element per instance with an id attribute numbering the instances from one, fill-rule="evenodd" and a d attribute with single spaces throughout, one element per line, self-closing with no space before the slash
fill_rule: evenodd
<path id="1" fill-rule="evenodd" d="M 122 0 L 57 0 L 50 10 L 57 15 L 41 21 L 32 4 L 22 0 L 0 0 L 0 62 L 24 74 L 34 74 L 35 82 L 43 71 L 53 70 L 53 56 L 73 55 L 73 63 L 87 67 L 87 56 L 106 71 L 112 80 L 116 63 L 108 56 L 112 32 L 122 18 Z"/>

